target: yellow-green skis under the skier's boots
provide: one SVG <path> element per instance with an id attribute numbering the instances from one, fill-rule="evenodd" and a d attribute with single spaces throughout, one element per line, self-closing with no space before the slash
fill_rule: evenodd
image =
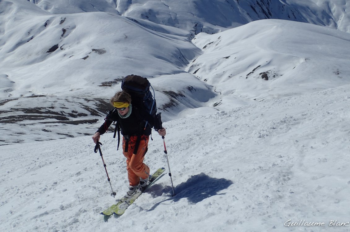
<path id="1" fill-rule="evenodd" d="M 134 201 L 141 195 L 141 193 L 144 192 L 150 185 L 152 185 L 155 182 L 155 180 L 158 177 L 160 177 L 160 175 L 164 171 L 165 171 L 164 167 L 161 167 L 160 169 L 155 171 L 155 173 L 153 173 L 151 175 L 151 178 L 148 179 L 147 185 L 146 185 L 146 187 L 144 188 L 143 191 L 140 191 L 140 190 L 137 189 L 132 195 L 130 195 L 130 196 L 129 195 L 125 195 L 124 197 L 119 199 L 116 204 L 111 205 L 105 211 L 101 212 L 101 214 L 105 215 L 105 216 L 111 216 L 113 214 L 117 214 L 117 215 L 124 214 L 125 210 L 129 207 L 129 205 L 134 203 Z"/>

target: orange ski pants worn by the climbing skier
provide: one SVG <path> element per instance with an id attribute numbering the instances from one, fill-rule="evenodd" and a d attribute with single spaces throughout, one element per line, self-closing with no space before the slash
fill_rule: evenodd
<path id="1" fill-rule="evenodd" d="M 137 153 L 134 153 L 137 136 L 131 136 L 128 141 L 128 149 L 125 152 L 125 138 L 123 136 L 123 155 L 126 158 L 126 170 L 128 172 L 129 184 L 138 185 L 140 178 L 146 179 L 149 176 L 149 167 L 144 164 L 145 154 L 147 152 L 149 136 L 142 135 Z"/>

